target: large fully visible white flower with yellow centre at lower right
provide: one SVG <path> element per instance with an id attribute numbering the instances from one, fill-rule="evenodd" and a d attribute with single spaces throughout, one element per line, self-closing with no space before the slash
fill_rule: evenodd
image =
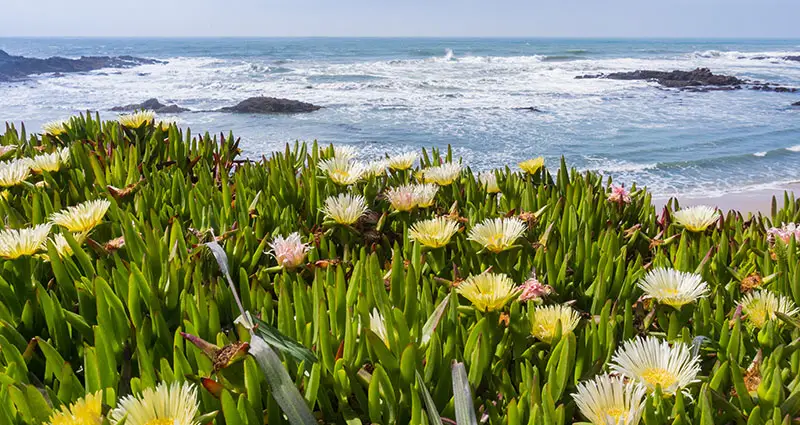
<path id="1" fill-rule="evenodd" d="M 674 395 L 697 382 L 700 357 L 693 356 L 689 346 L 648 336 L 626 341 L 611 358 L 611 370 L 655 391 L 660 386 L 667 395 Z"/>

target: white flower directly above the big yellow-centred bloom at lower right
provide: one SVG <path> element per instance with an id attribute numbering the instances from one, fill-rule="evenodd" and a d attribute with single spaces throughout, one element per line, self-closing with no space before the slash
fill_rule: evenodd
<path id="1" fill-rule="evenodd" d="M 650 270 L 639 281 L 639 288 L 645 297 L 677 309 L 708 295 L 708 285 L 699 274 L 665 267 Z"/>

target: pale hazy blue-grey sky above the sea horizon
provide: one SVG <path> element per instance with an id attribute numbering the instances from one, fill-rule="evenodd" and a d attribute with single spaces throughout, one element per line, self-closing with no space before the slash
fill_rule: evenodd
<path id="1" fill-rule="evenodd" d="M 0 0 L 0 36 L 800 38 L 800 0 Z"/>

